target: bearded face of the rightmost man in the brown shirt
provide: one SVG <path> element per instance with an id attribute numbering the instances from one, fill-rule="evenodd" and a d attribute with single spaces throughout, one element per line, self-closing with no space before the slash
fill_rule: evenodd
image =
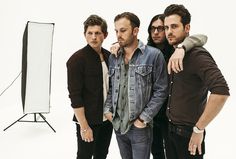
<path id="1" fill-rule="evenodd" d="M 177 45 L 181 43 L 186 36 L 188 36 L 190 25 L 185 27 L 181 23 L 181 17 L 177 14 L 165 17 L 165 34 L 170 45 Z"/>

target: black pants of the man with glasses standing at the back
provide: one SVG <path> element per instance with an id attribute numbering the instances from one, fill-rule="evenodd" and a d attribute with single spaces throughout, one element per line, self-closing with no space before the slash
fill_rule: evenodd
<path id="1" fill-rule="evenodd" d="M 165 159 L 168 121 L 166 118 L 154 118 L 153 121 L 152 156 L 153 159 Z"/>

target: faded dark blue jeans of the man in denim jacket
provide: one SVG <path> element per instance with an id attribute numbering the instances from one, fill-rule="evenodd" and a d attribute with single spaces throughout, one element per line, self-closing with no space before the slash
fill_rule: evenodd
<path id="1" fill-rule="evenodd" d="M 152 128 L 137 128 L 134 125 L 126 134 L 115 131 L 122 159 L 149 159 L 152 143 Z"/>

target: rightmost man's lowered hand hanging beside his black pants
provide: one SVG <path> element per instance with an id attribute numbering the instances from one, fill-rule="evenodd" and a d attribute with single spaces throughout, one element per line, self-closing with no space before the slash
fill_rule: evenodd
<path id="1" fill-rule="evenodd" d="M 202 154 L 202 141 L 203 141 L 203 133 L 192 133 L 192 136 L 190 138 L 189 144 L 188 144 L 188 150 L 190 151 L 191 155 L 195 155 L 196 151 L 198 151 L 198 154 Z"/>

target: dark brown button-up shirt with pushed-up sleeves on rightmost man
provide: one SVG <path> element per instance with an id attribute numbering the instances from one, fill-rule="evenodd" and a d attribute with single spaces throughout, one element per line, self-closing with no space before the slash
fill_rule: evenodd
<path id="1" fill-rule="evenodd" d="M 167 116 L 174 124 L 194 126 L 202 115 L 208 92 L 229 95 L 229 87 L 210 53 L 195 47 L 186 53 L 184 70 L 171 75 Z"/>

